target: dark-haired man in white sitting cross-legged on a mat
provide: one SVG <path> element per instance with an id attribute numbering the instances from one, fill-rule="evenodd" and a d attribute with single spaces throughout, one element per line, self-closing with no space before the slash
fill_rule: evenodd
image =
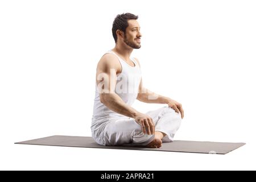
<path id="1" fill-rule="evenodd" d="M 142 85 L 141 65 L 130 58 L 133 49 L 141 48 L 137 19 L 130 13 L 117 15 L 112 28 L 115 47 L 97 65 L 91 129 L 101 145 L 159 148 L 162 142 L 172 142 L 184 117 L 179 102 Z M 143 114 L 131 107 L 136 99 L 168 106 Z"/>

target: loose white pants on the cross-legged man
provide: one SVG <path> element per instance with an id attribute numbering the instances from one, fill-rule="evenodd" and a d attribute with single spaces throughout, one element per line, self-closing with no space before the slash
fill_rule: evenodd
<path id="1" fill-rule="evenodd" d="M 155 131 L 166 134 L 162 141 L 172 142 L 180 127 L 181 115 L 168 106 L 145 114 L 152 118 Z M 113 117 L 100 123 L 102 124 L 98 125 L 97 132 L 92 132 L 92 137 L 98 144 L 104 146 L 146 146 L 155 137 L 155 135 L 144 134 L 141 125 L 135 122 L 134 118 Z"/>

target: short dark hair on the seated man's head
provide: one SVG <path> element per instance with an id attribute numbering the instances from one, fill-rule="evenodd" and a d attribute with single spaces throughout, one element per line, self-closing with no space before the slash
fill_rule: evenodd
<path id="1" fill-rule="evenodd" d="M 115 43 L 117 43 L 117 30 L 121 30 L 125 33 L 126 28 L 128 27 L 128 20 L 129 19 L 138 19 L 138 15 L 134 15 L 131 13 L 123 13 L 119 14 L 115 17 L 112 27 L 112 34 L 115 39 Z"/>

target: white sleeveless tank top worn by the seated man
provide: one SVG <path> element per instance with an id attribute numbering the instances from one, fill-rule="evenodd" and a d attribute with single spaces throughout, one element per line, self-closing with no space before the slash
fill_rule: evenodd
<path id="1" fill-rule="evenodd" d="M 108 51 L 106 53 L 112 53 L 113 55 L 118 57 L 118 60 L 122 66 L 122 72 L 117 74 L 117 84 L 115 85 L 115 93 L 117 93 L 118 96 L 121 97 L 126 104 L 131 106 L 138 96 L 139 84 L 141 82 L 141 68 L 139 67 L 135 59 L 131 59 L 135 64 L 135 66 L 132 67 L 123 59 L 121 59 L 118 55 L 116 55 L 113 51 Z M 101 103 L 100 94 L 98 92 L 96 82 L 96 92 L 94 98 L 92 121 L 94 121 L 95 119 L 101 119 L 112 116 L 124 115 L 118 114 L 115 111 L 108 109 L 108 107 Z"/>

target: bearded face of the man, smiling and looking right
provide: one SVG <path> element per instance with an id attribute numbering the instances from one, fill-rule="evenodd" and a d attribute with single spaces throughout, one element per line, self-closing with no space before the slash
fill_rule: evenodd
<path id="1" fill-rule="evenodd" d="M 141 48 L 141 27 L 137 20 L 128 20 L 128 27 L 126 28 L 125 38 L 123 42 L 134 49 Z"/>

